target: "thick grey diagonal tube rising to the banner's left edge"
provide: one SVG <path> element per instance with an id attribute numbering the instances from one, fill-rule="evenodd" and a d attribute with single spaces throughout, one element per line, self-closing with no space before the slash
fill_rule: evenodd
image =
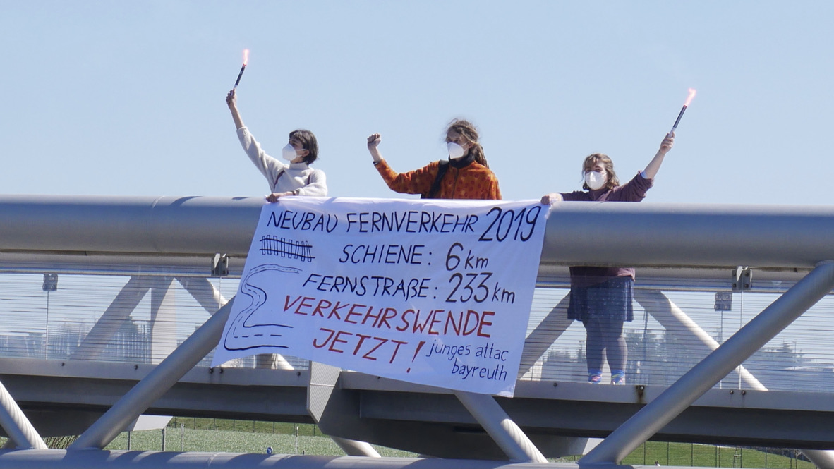
<path id="1" fill-rule="evenodd" d="M 220 341 L 234 297 L 214 316 L 198 327 L 188 339 L 171 352 L 153 372 L 148 373 L 127 394 L 118 400 L 68 449 L 103 448 L 118 437 L 130 422 L 139 417 L 153 402 L 168 391 L 191 368 L 211 352 Z"/>

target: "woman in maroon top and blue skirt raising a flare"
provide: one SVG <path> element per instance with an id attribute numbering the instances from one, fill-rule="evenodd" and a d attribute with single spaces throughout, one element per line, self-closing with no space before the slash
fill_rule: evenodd
<path id="1" fill-rule="evenodd" d="M 675 133 L 667 134 L 655 157 L 631 181 L 620 186 L 614 162 L 602 153 L 585 157 L 583 191 L 552 192 L 541 203 L 562 201 L 640 202 L 654 183 L 663 157 L 671 150 Z M 625 384 L 625 361 L 628 347 L 623 337 L 623 323 L 634 319 L 631 302 L 634 296 L 634 269 L 629 267 L 570 267 L 570 305 L 568 318 L 585 326 L 585 359 L 588 382 L 602 379 L 603 357 L 608 359 L 611 384 Z"/>

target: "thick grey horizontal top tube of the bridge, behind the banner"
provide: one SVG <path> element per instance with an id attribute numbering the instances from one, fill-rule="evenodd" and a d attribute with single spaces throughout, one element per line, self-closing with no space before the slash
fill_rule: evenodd
<path id="1" fill-rule="evenodd" d="M 246 257 L 261 197 L 0 195 L 0 251 Z M 89 236 L 95 232 L 96 236 Z M 541 262 L 811 269 L 834 259 L 834 207 L 563 202 Z"/>

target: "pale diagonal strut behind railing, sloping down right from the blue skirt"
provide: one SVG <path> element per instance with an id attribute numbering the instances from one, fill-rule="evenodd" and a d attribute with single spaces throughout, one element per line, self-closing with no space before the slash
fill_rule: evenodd
<path id="1" fill-rule="evenodd" d="M 686 343 L 685 347 L 700 345 L 702 350 L 706 349 L 706 352 L 712 352 L 721 345 L 660 290 L 635 288 L 634 299 L 640 303 L 641 307 L 646 309 L 646 312 L 651 314 L 651 317 L 660 322 L 667 332 L 672 332 L 673 336 L 696 338 L 695 342 L 684 342 Z M 757 391 L 767 391 L 765 385 L 761 384 L 745 367 L 739 366 L 738 372 L 741 374 L 741 381 L 747 387 Z"/>

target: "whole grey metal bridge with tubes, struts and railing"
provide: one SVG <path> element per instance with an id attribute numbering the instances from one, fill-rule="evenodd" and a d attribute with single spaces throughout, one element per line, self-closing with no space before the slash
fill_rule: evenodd
<path id="1" fill-rule="evenodd" d="M 0 196 L 0 467 L 593 468 L 656 440 L 834 469 L 834 207 L 555 205 L 505 398 L 295 357 L 209 367 L 263 203 Z M 575 265 L 637 269 L 626 386 L 587 383 Z M 316 423 L 346 456 L 104 449 L 142 415 Z"/>

